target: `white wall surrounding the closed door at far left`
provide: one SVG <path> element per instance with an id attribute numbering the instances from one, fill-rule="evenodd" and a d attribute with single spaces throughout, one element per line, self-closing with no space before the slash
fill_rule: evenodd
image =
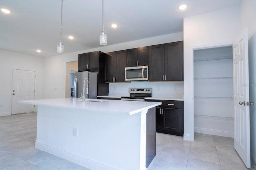
<path id="1" fill-rule="evenodd" d="M 43 59 L 31 55 L 0 50 L 0 116 L 11 114 L 12 69 L 36 72 L 35 98 L 42 98 Z"/>

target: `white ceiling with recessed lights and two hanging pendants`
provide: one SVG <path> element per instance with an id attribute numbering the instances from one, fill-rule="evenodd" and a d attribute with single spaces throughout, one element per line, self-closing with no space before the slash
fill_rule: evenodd
<path id="1" fill-rule="evenodd" d="M 183 31 L 183 18 L 236 6 L 242 0 L 104 0 L 108 45 Z M 180 4 L 187 4 L 184 11 Z M 59 55 L 61 0 L 1 0 L 0 49 L 38 57 Z M 116 29 L 111 24 L 116 23 Z M 100 47 L 102 0 L 63 0 L 64 53 Z M 68 39 L 73 35 L 75 39 Z M 36 49 L 41 49 L 37 53 Z"/>

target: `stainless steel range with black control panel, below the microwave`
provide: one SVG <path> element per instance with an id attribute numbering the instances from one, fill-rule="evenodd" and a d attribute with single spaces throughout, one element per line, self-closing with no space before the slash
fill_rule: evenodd
<path id="1" fill-rule="evenodd" d="M 152 88 L 130 88 L 130 96 L 122 96 L 121 100 L 145 101 L 145 98 L 152 97 Z"/>

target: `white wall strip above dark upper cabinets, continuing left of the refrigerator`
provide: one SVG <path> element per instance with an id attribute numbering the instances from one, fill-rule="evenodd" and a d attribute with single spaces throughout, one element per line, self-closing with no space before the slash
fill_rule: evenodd
<path id="1" fill-rule="evenodd" d="M 114 37 L 108 37 L 114 38 Z M 88 49 L 74 53 L 47 57 L 44 59 L 44 98 L 64 98 L 65 97 L 65 82 L 66 82 L 66 62 L 77 61 L 78 54 L 88 53 L 92 51 L 102 51 L 104 53 L 118 51 L 124 49 L 132 49 L 148 45 L 156 45 L 162 43 L 170 43 L 183 40 L 183 32 L 140 39 L 116 45 L 107 45 L 95 49 Z M 65 47 L 64 47 L 65 52 Z"/>

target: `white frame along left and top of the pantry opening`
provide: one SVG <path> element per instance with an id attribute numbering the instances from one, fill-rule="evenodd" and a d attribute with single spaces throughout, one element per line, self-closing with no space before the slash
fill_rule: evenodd
<path id="1" fill-rule="evenodd" d="M 197 45 L 197 46 L 191 46 L 190 47 L 190 75 L 189 75 L 189 81 L 190 81 L 190 90 L 188 94 L 188 99 L 189 99 L 189 128 L 186 129 L 184 127 L 184 132 L 185 131 L 190 131 L 190 134 L 185 134 L 184 133 L 184 140 L 188 141 L 194 141 L 194 50 L 200 50 L 200 49 L 210 49 L 210 48 L 218 48 L 218 47 L 227 47 L 227 46 L 232 46 L 233 42 L 226 42 L 226 43 L 216 43 L 216 44 L 206 44 L 206 45 Z M 185 80 L 186 81 L 186 80 Z M 185 97 L 186 94 L 184 94 Z M 184 98 L 185 100 L 185 98 Z M 187 102 L 186 102 L 187 103 Z M 185 102 L 184 102 L 185 105 Z M 186 115 L 184 115 L 186 116 Z M 184 122 L 185 124 L 185 122 Z M 188 127 L 187 127 L 188 128 Z"/>

